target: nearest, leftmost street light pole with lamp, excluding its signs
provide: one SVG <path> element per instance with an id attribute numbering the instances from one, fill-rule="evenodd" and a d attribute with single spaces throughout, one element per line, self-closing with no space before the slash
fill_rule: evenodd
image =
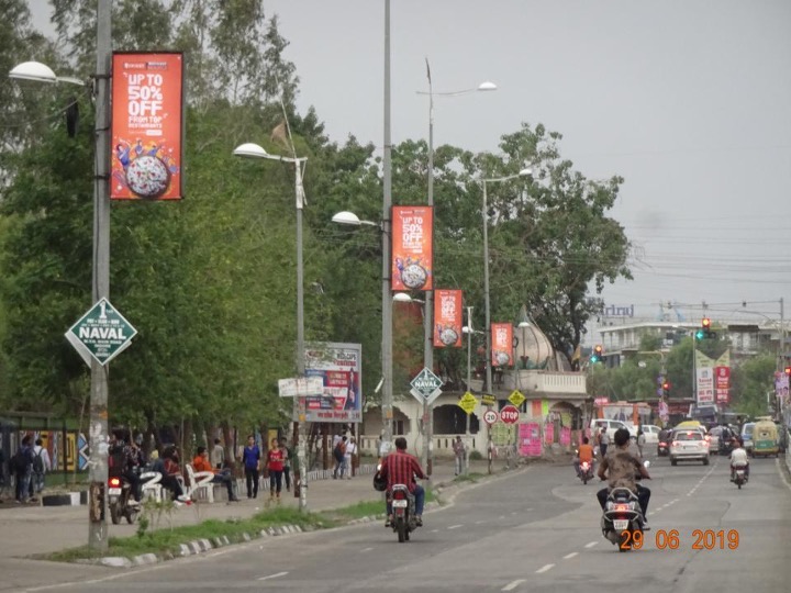
<path id="1" fill-rule="evenodd" d="M 110 0 L 97 0 L 96 97 L 94 121 L 94 181 L 93 181 L 93 303 L 110 296 L 110 77 L 112 59 L 112 12 Z M 77 78 L 58 77 L 46 65 L 25 61 L 14 67 L 9 76 L 35 82 L 67 82 L 88 87 Z M 88 504 L 88 546 L 107 551 L 105 490 L 108 482 L 108 373 L 107 365 L 91 360 L 90 398 L 90 496 Z"/>

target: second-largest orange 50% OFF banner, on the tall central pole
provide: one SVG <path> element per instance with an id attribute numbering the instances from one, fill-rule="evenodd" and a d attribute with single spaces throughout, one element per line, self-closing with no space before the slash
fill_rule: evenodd
<path id="1" fill-rule="evenodd" d="M 434 288 L 434 209 L 392 208 L 392 290 Z"/>

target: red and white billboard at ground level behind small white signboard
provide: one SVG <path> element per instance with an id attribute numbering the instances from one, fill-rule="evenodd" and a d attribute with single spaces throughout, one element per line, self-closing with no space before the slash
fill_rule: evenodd
<path id="1" fill-rule="evenodd" d="M 305 348 L 305 374 L 322 380 L 323 393 L 296 398 L 299 422 L 363 421 L 363 347 L 317 342 Z"/>

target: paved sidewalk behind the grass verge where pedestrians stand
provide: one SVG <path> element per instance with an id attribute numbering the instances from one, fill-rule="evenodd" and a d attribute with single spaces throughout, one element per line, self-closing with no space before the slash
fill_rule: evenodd
<path id="1" fill-rule="evenodd" d="M 503 471 L 503 463 L 495 462 L 492 470 Z M 487 461 L 471 461 L 470 473 L 487 473 Z M 434 462 L 431 486 L 437 488 L 453 481 L 454 462 L 441 459 Z M 225 521 L 247 518 L 264 510 L 269 497 L 267 491 L 259 491 L 257 499 L 247 499 L 244 490 L 239 492 L 238 503 L 216 502 L 198 503 L 182 506 L 171 517 L 174 526 L 193 525 L 207 519 Z M 282 492 L 281 506 L 299 507 L 293 492 Z M 357 502 L 379 501 L 381 493 L 374 490 L 372 474 L 363 474 L 352 480 L 316 480 L 309 482 L 308 510 L 328 511 L 348 506 Z M 383 508 L 382 508 L 383 512 Z M 137 525 L 110 524 L 110 537 L 127 537 L 135 534 Z M 159 528 L 168 528 L 163 517 Z M 48 553 L 64 548 L 82 546 L 88 542 L 88 507 L 80 506 L 19 506 L 0 513 L 0 558 L 24 557 Z"/>

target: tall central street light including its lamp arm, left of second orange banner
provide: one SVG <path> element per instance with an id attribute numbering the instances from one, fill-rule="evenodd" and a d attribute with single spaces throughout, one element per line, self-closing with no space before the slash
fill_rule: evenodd
<path id="1" fill-rule="evenodd" d="M 390 2 L 386 2 L 386 30 L 389 30 L 390 20 Z M 386 45 L 389 46 L 389 35 L 387 36 Z M 386 51 L 386 69 L 389 70 L 389 49 Z M 386 86 L 386 97 L 389 98 L 389 83 Z M 389 103 L 389 100 L 386 101 Z M 386 107 L 386 113 L 389 113 L 389 108 Z M 386 116 L 386 137 L 389 143 L 389 116 Z M 386 148 L 386 155 L 388 149 Z M 389 160 L 389 157 L 387 157 Z M 332 221 L 336 224 L 346 224 L 352 226 L 376 226 L 381 232 L 382 239 L 382 344 L 381 344 L 381 360 L 382 360 L 382 395 L 381 395 L 381 412 L 382 412 L 382 444 L 381 448 L 377 454 L 379 456 L 387 455 L 390 451 L 392 445 L 392 295 L 390 293 L 390 200 L 389 200 L 389 174 L 388 179 L 385 182 L 385 209 L 383 219 L 381 224 L 370 221 L 361 221 L 354 212 L 338 212 L 332 217 Z M 409 294 L 408 294 L 409 296 Z"/>

